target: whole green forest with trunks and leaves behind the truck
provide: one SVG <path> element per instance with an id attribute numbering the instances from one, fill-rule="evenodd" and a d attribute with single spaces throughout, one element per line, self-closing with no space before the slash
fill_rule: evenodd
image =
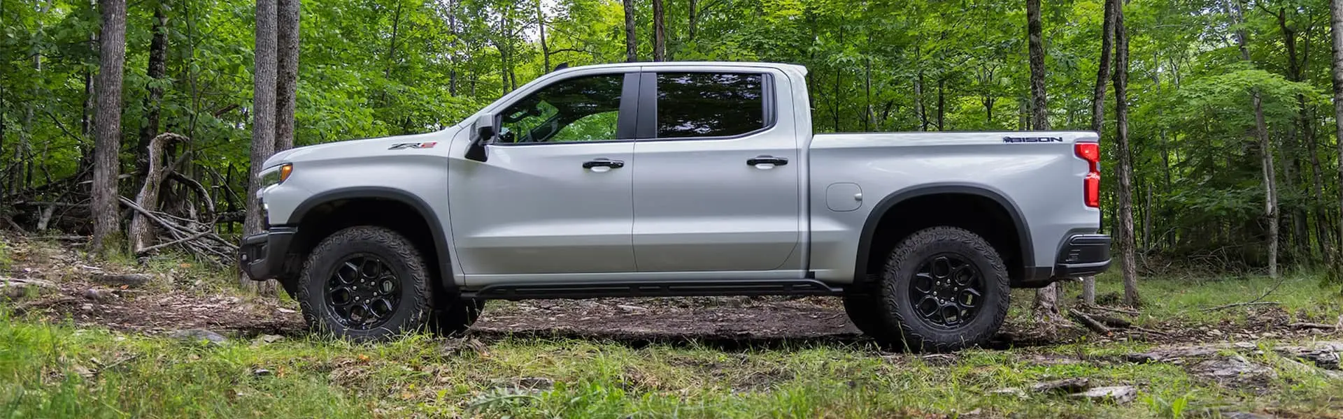
<path id="1" fill-rule="evenodd" d="M 825 132 L 1099 132 L 1125 277 L 1322 271 L 1343 259 L 1331 16 L 1324 0 L 0 0 L 0 219 L 227 261 L 277 149 L 436 130 L 561 64 L 764 60 L 807 66 Z"/>

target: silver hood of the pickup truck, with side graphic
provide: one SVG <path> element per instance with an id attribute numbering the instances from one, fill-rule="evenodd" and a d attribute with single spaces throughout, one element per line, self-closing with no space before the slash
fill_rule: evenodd
<path id="1" fill-rule="evenodd" d="M 459 128 L 454 126 L 446 130 L 423 134 L 349 140 L 293 148 L 266 158 L 262 169 L 286 162 L 302 162 L 312 160 L 407 154 L 407 152 L 415 152 L 416 149 L 442 149 L 446 152 L 449 141 L 457 130 L 459 130 Z M 396 148 L 398 145 L 403 146 Z"/>

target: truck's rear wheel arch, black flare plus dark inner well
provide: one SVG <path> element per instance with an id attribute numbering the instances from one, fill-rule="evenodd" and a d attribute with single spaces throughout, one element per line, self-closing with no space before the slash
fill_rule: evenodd
<path id="1" fill-rule="evenodd" d="M 994 204 L 997 204 L 997 207 L 1006 214 L 1007 219 L 1011 220 L 1011 227 L 1014 230 L 1014 235 L 1017 239 L 1015 243 L 1011 243 L 1015 244 L 1018 252 L 1015 255 L 1017 263 L 1013 263 L 1017 266 L 1015 267 L 1009 266 L 1009 271 L 1013 273 L 1014 277 L 1017 277 L 1013 278 L 1014 279 L 1013 282 L 1014 283 L 1022 282 L 1025 279 L 1030 279 L 1030 277 L 1034 275 L 1033 267 L 1035 266 L 1035 255 L 1034 255 L 1034 247 L 1031 246 L 1030 230 L 1026 223 L 1026 219 L 1021 214 L 1021 208 L 1017 207 L 1017 204 L 1013 200 L 1007 199 L 1003 193 L 991 189 L 990 187 L 986 185 L 929 184 L 929 185 L 921 185 L 892 192 L 890 195 L 882 197 L 873 207 L 872 212 L 868 214 L 868 219 L 864 222 L 862 232 L 858 238 L 858 254 L 857 254 L 857 261 L 854 263 L 855 283 L 864 282 L 869 274 L 874 274 L 869 271 L 869 266 L 872 266 L 872 257 L 874 251 L 873 244 L 878 236 L 878 230 L 882 227 L 882 222 L 890 220 L 888 215 L 892 216 L 898 215 L 898 211 L 901 209 L 900 204 L 908 204 L 919 199 L 929 199 L 940 196 L 975 197 L 975 199 L 990 200 Z M 898 240 L 902 239 L 902 236 L 888 238 L 888 239 Z M 1009 255 L 1005 257 L 1010 258 Z M 1019 267 L 1019 271 L 1015 271 L 1017 267 Z"/>

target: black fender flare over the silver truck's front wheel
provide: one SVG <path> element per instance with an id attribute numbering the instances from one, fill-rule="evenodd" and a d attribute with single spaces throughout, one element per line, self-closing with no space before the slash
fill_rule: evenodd
<path id="1" fill-rule="evenodd" d="M 351 187 L 324 191 L 309 196 L 298 207 L 294 207 L 294 212 L 289 214 L 289 224 L 298 226 L 302 223 L 304 216 L 313 208 L 345 199 L 391 200 L 407 204 L 415 212 L 419 212 L 420 218 L 424 219 L 424 224 L 428 224 L 430 234 L 434 238 L 434 254 L 438 257 L 439 275 L 442 277 L 439 282 L 449 290 L 457 287 L 457 282 L 453 281 L 453 262 L 449 258 L 447 235 L 443 232 L 443 226 L 438 222 L 438 214 L 434 212 L 434 208 L 419 196 L 415 196 L 415 193 L 388 187 Z"/>

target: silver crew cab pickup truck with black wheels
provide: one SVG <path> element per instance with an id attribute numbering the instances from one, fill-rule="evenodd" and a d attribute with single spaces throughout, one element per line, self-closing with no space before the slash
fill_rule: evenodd
<path id="1" fill-rule="evenodd" d="M 1095 133 L 815 133 L 806 71 L 571 67 L 438 132 L 277 153 L 239 263 L 351 340 L 486 299 L 782 294 L 915 351 L 1109 266 Z"/>

